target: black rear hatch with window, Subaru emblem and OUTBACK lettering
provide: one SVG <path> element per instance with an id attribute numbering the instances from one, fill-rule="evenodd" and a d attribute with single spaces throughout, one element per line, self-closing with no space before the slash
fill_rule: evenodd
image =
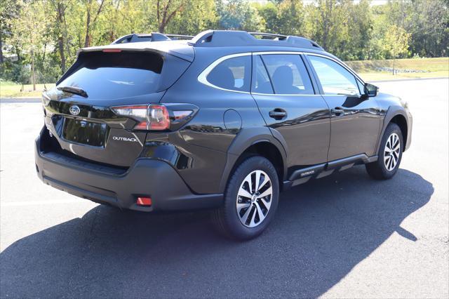
<path id="1" fill-rule="evenodd" d="M 147 131 L 136 130 L 138 119 L 112 107 L 159 103 L 193 60 L 182 55 L 128 45 L 81 51 L 56 87 L 43 94 L 46 127 L 57 140 L 51 143 L 60 147 L 53 150 L 112 166 L 133 164 Z"/>

